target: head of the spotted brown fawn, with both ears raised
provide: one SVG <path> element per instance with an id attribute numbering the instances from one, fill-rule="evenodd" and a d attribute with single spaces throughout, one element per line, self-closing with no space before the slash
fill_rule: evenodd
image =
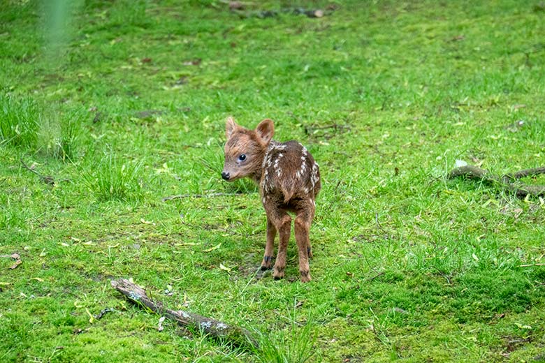
<path id="1" fill-rule="evenodd" d="M 225 124 L 225 163 L 221 177 L 228 182 L 242 177 L 259 179 L 261 163 L 265 157 L 275 126 L 270 119 L 264 119 L 255 130 L 248 130 L 228 117 Z"/>

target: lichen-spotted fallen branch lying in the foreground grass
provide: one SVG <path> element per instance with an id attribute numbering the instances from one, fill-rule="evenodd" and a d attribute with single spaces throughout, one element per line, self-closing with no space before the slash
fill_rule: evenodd
<path id="1" fill-rule="evenodd" d="M 231 342 L 235 346 L 247 346 L 249 348 L 258 346 L 258 343 L 256 343 L 249 332 L 241 327 L 227 325 L 226 323 L 221 323 L 218 320 L 206 318 L 196 313 L 168 309 L 161 302 L 154 302 L 147 296 L 143 288 L 140 288 L 135 283 L 131 283 L 129 280 L 118 279 L 112 280 L 111 283 L 112 287 L 125 295 L 126 299 L 129 299 L 130 302 L 144 306 L 160 316 L 174 320 L 182 327 L 188 327 L 197 331 L 200 330 L 204 334 Z"/>

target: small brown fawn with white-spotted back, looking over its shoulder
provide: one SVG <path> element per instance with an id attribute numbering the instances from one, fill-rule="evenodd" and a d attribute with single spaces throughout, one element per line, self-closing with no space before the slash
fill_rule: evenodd
<path id="1" fill-rule="evenodd" d="M 261 269 L 270 269 L 279 245 L 273 277 L 282 279 L 286 267 L 286 249 L 291 235 L 291 216 L 295 217 L 295 237 L 299 253 L 301 281 L 310 281 L 308 259 L 312 249 L 308 237 L 314 218 L 316 196 L 321 188 L 320 170 L 312 155 L 296 141 L 273 140 L 273 121 L 264 119 L 255 130 L 243 128 L 228 117 L 226 121 L 225 164 L 221 177 L 228 182 L 250 177 L 259 184 L 261 202 L 267 214 L 267 242 Z"/>

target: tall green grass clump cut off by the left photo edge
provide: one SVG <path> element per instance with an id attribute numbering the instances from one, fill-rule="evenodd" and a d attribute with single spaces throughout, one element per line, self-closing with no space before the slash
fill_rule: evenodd
<path id="1" fill-rule="evenodd" d="M 29 98 L 18 100 L 0 94 L 0 144 L 17 147 L 36 145 L 40 113 Z"/>

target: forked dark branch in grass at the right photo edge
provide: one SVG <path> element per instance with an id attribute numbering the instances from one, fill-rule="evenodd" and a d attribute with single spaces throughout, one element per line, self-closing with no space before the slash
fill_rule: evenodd
<path id="1" fill-rule="evenodd" d="M 494 186 L 498 186 L 506 189 L 507 191 L 514 193 L 518 198 L 525 198 L 527 195 L 537 197 L 545 195 L 545 186 L 543 185 L 528 185 L 523 183 L 516 183 L 518 179 L 523 177 L 532 177 L 535 175 L 545 174 L 545 167 L 525 169 L 506 175 L 495 175 L 488 170 L 481 169 L 475 165 L 465 165 L 455 168 L 449 172 L 447 176 L 449 179 L 456 177 L 468 177 L 470 179 L 477 179 L 483 182 L 488 182 Z"/>

